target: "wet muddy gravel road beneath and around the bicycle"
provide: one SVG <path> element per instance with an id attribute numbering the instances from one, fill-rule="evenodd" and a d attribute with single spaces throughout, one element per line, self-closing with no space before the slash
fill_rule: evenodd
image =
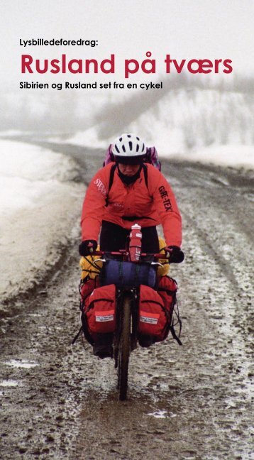
<path id="1" fill-rule="evenodd" d="M 72 154 L 84 182 L 101 164 L 100 152 L 47 146 Z M 184 221 L 186 260 L 171 271 L 183 346 L 169 337 L 133 351 L 128 400 L 118 401 L 113 361 L 70 344 L 77 222 L 60 270 L 1 319 L 1 459 L 254 458 L 253 177 L 188 163 L 162 170 Z"/>

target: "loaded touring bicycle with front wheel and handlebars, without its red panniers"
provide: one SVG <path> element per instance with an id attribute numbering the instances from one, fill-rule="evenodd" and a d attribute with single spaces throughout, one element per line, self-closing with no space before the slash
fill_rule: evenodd
<path id="1" fill-rule="evenodd" d="M 140 285 L 150 285 L 150 287 L 154 288 L 156 282 L 155 267 L 161 265 L 159 259 L 165 259 L 168 263 L 168 261 L 170 261 L 170 256 L 162 255 L 161 253 L 139 253 L 135 262 L 130 260 L 130 252 L 128 250 L 111 252 L 94 251 L 93 256 L 103 257 L 93 262 L 96 267 L 98 267 L 96 263 L 103 263 L 100 275 L 102 285 L 116 285 L 116 329 L 114 332 L 113 358 L 115 361 L 115 368 L 117 368 L 119 399 L 126 400 L 129 359 L 131 351 L 137 348 L 139 338 L 138 300 L 140 296 Z M 116 270 L 117 265 L 122 268 L 122 270 L 118 270 L 118 273 Z M 133 272 L 132 275 L 130 275 L 131 270 Z M 126 274 L 126 271 L 129 273 Z M 177 339 L 179 344 L 182 344 L 179 337 L 175 334 L 175 324 L 172 324 L 172 314 L 175 305 L 177 305 L 176 297 L 169 317 L 167 318 L 165 336 L 167 336 L 168 332 L 171 330 L 174 338 Z M 178 309 L 177 321 L 181 329 Z M 90 340 L 91 337 L 85 330 L 84 322 L 83 332 L 86 339 L 92 344 Z"/>

